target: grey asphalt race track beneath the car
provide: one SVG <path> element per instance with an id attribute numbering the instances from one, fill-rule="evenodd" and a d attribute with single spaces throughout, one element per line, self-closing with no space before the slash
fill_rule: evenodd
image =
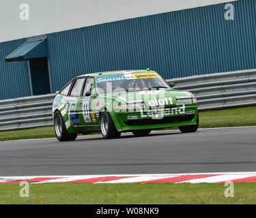
<path id="1" fill-rule="evenodd" d="M 256 127 L 0 142 L 0 176 L 256 171 Z"/>

